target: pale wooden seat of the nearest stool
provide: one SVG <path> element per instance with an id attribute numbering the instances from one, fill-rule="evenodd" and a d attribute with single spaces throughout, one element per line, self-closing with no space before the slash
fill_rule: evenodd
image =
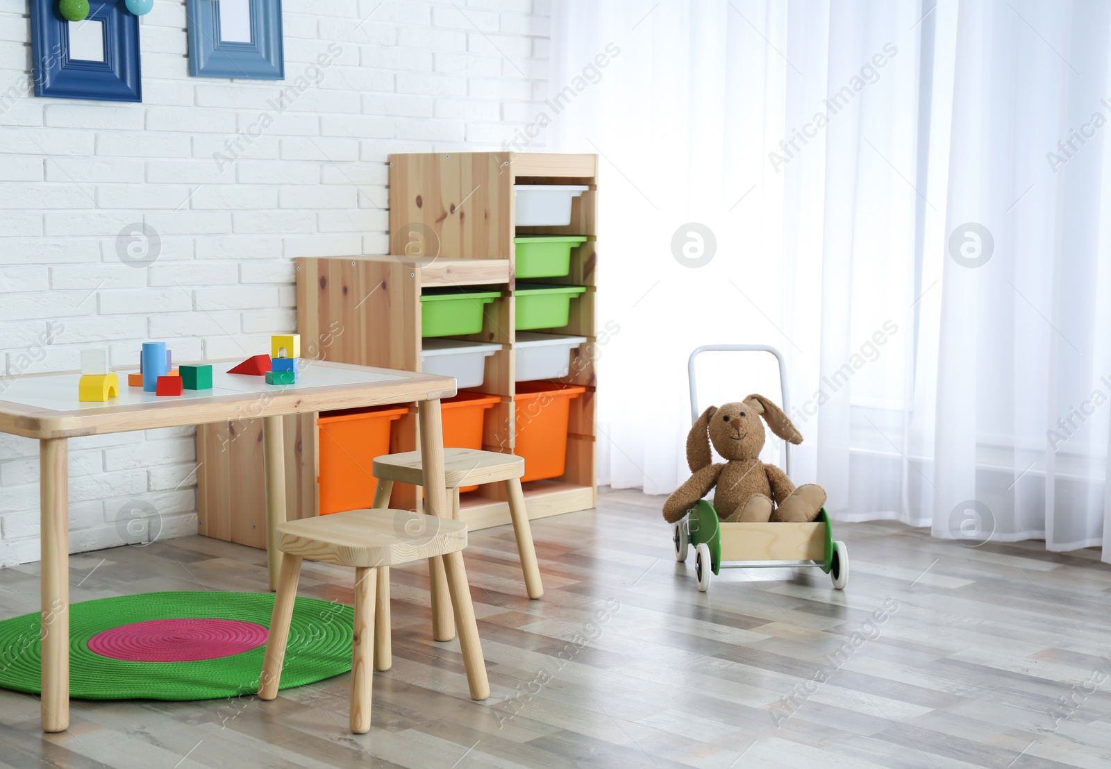
<path id="1" fill-rule="evenodd" d="M 397 566 L 466 547 L 466 523 L 409 510 L 349 510 L 278 527 L 282 552 L 336 566 Z"/>

